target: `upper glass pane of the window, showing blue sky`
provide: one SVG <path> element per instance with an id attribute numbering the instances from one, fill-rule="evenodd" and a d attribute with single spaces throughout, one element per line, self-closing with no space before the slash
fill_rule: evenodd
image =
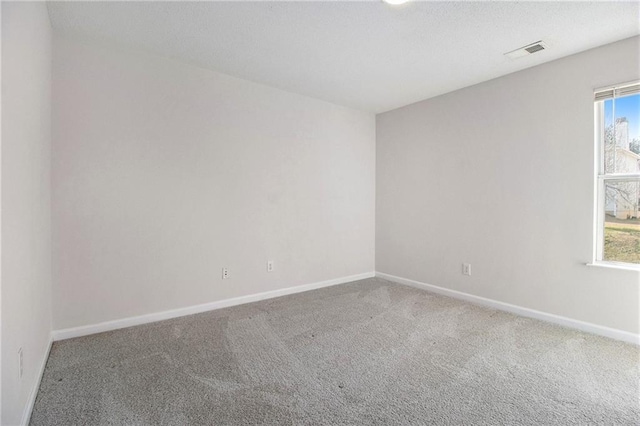
<path id="1" fill-rule="evenodd" d="M 604 102 L 604 169 L 640 172 L 640 94 Z"/>

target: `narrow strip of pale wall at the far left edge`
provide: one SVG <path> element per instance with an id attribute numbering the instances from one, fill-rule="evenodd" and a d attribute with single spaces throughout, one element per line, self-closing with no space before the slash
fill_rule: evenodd
<path id="1" fill-rule="evenodd" d="M 2 424 L 23 421 L 51 333 L 51 29 L 2 3 Z M 18 373 L 22 347 L 24 373 Z"/>

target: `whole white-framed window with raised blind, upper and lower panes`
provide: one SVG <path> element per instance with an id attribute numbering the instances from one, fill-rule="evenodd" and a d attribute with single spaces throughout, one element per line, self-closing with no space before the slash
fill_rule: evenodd
<path id="1" fill-rule="evenodd" d="M 640 268 L 640 83 L 596 91 L 595 260 Z"/>

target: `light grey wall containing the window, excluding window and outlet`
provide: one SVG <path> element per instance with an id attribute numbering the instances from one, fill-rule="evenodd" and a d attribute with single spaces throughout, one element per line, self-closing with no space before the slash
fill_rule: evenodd
<path id="1" fill-rule="evenodd" d="M 638 333 L 640 274 L 585 264 L 593 90 L 638 79 L 639 44 L 378 115 L 376 269 Z"/>

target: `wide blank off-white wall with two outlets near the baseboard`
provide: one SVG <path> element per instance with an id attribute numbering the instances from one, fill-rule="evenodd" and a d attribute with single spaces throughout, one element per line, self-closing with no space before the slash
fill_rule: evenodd
<path id="1" fill-rule="evenodd" d="M 53 99 L 55 329 L 374 270 L 373 114 L 63 37 Z"/>

